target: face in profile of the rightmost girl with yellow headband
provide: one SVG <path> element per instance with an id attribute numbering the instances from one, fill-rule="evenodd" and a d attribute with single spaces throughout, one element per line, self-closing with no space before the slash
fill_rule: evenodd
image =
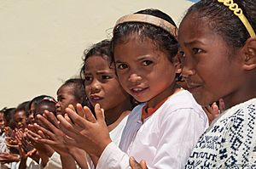
<path id="1" fill-rule="evenodd" d="M 230 51 L 224 39 L 208 25 L 206 18 L 196 14 L 183 19 L 178 32 L 182 74 L 199 104 L 223 98 L 225 104 L 233 105 L 241 96 L 239 88 L 244 82 L 239 51 Z"/>

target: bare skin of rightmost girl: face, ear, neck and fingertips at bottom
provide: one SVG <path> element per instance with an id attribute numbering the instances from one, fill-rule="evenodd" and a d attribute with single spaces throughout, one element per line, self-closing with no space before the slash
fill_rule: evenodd
<path id="1" fill-rule="evenodd" d="M 230 55 L 227 43 L 204 24 L 206 21 L 198 19 L 196 13 L 189 14 L 178 32 L 183 76 L 190 92 L 204 106 L 223 98 L 225 109 L 255 98 L 256 37 L 249 37 Z M 132 159 L 130 165 L 132 169 L 147 168 L 142 161 Z"/>

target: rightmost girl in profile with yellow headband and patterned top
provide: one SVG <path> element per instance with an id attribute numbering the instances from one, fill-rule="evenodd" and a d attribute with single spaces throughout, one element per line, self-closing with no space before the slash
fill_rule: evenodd
<path id="1" fill-rule="evenodd" d="M 256 3 L 236 2 L 195 3 L 179 28 L 189 91 L 201 105 L 222 98 L 226 108 L 196 144 L 187 168 L 256 168 Z"/>

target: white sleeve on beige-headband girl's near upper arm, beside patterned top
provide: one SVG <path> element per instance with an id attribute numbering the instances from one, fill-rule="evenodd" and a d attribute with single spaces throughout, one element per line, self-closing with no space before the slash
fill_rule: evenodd
<path id="1" fill-rule="evenodd" d="M 149 168 L 184 168 L 192 149 L 208 126 L 207 117 L 194 109 L 172 112 L 160 125 L 156 154 Z"/>

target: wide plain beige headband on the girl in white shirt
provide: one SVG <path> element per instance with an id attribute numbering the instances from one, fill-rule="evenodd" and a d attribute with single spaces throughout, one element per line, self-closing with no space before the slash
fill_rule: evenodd
<path id="1" fill-rule="evenodd" d="M 143 22 L 159 26 L 160 28 L 168 31 L 177 40 L 177 27 L 156 16 L 149 14 L 128 14 L 117 20 L 114 27 L 125 22 Z"/>

